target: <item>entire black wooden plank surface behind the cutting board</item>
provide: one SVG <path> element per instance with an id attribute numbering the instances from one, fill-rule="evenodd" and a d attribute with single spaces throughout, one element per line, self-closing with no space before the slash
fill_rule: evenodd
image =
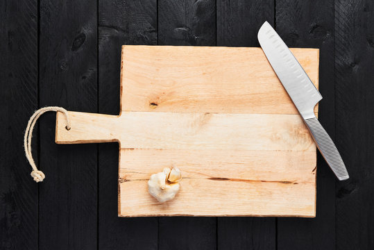
<path id="1" fill-rule="evenodd" d="M 259 47 L 267 20 L 289 47 L 321 49 L 320 120 L 351 178 L 318 156 L 314 219 L 117 217 L 118 145 L 34 133 L 43 106 L 119 113 L 122 44 Z M 0 249 L 374 249 L 373 0 L 0 0 Z"/>

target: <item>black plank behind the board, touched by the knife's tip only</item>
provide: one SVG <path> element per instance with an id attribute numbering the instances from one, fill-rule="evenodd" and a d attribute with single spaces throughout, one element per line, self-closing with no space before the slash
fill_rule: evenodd
<path id="1" fill-rule="evenodd" d="M 218 0 L 216 44 L 260 47 L 257 31 L 273 20 L 273 1 Z M 219 218 L 217 238 L 218 249 L 275 249 L 275 218 Z"/>

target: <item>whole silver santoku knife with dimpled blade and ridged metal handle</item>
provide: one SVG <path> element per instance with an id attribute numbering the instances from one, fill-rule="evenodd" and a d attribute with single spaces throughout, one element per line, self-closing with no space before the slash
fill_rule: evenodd
<path id="1" fill-rule="evenodd" d="M 257 38 L 275 74 L 277 74 L 289 97 L 294 101 L 298 112 L 303 117 L 310 133 L 312 133 L 322 156 L 330 165 L 339 181 L 348 179 L 346 166 L 337 147 L 335 147 L 334 142 L 332 142 L 330 136 L 314 115 L 314 106 L 316 106 L 318 101 L 321 101 L 321 94 L 314 87 L 314 84 L 310 81 L 294 54 L 291 53 L 287 45 L 268 22 L 262 24 Z"/>

